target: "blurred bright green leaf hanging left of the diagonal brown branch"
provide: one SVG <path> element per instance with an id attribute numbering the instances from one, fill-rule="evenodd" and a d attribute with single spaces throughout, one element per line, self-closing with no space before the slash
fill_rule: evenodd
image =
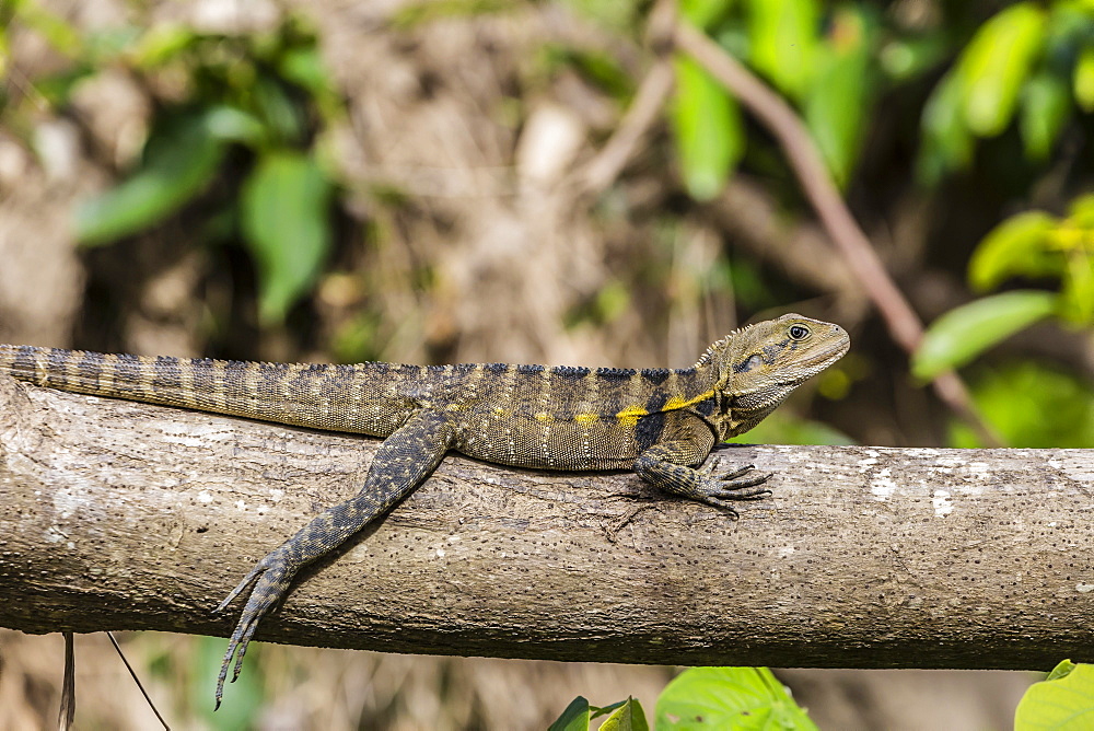
<path id="1" fill-rule="evenodd" d="M 690 58 L 677 57 L 673 130 L 688 193 L 709 200 L 721 193 L 744 152 L 736 102 Z"/>

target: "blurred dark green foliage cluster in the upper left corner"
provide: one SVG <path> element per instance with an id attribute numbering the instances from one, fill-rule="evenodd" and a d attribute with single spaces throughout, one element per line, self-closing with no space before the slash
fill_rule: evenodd
<path id="1" fill-rule="evenodd" d="M 79 241 L 101 246 L 155 227 L 214 181 L 238 177 L 240 156 L 230 153 L 242 148 L 249 153 L 242 181 L 210 217 L 230 225 L 197 227 L 195 241 L 242 242 L 257 268 L 259 322 L 282 322 L 318 281 L 333 244 L 335 182 L 323 143 L 344 112 L 314 33 L 287 16 L 269 33 L 155 24 L 81 35 L 39 3 L 20 1 L 13 12 L 74 61 L 36 81 L 54 105 L 63 106 L 78 82 L 104 68 L 171 90 L 154 106 L 132 167 L 75 211 Z"/>

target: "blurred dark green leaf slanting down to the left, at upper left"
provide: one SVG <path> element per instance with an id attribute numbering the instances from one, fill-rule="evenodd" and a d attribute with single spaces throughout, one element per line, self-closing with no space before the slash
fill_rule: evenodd
<path id="1" fill-rule="evenodd" d="M 160 222 L 206 186 L 224 149 L 210 134 L 205 115 L 170 117 L 152 132 L 131 176 L 77 208 L 77 239 L 96 246 Z"/>

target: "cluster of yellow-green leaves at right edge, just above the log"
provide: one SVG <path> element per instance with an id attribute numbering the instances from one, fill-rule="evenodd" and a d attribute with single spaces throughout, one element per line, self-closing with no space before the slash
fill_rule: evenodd
<path id="1" fill-rule="evenodd" d="M 912 372 L 921 379 L 970 363 L 1048 317 L 1075 337 L 1092 337 L 1094 195 L 1073 200 L 1063 217 L 1026 211 L 1006 219 L 974 252 L 968 278 L 976 291 L 1014 278 L 1057 280 L 1059 289 L 1011 290 L 946 312 L 931 323 L 912 359 Z M 975 372 L 973 397 L 1011 446 L 1094 446 L 1094 385 L 1087 379 L 1035 361 L 1011 362 Z M 982 446 L 956 423 L 951 443 Z"/>

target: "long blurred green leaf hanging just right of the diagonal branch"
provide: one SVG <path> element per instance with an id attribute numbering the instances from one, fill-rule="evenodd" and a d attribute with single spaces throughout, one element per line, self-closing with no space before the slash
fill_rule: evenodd
<path id="1" fill-rule="evenodd" d="M 865 15 L 841 9 L 833 21 L 831 44 L 816 49 L 818 72 L 805 92 L 805 123 L 840 187 L 847 184 L 862 147 L 869 113 L 870 37 Z"/>

